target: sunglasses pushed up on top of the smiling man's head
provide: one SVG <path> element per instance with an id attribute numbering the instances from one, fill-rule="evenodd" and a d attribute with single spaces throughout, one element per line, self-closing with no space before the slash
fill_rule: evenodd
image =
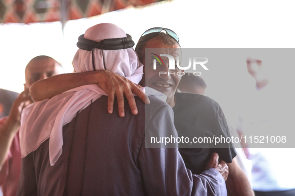
<path id="1" fill-rule="evenodd" d="M 156 37 L 160 34 L 160 32 L 164 30 L 170 37 L 172 37 L 177 43 L 179 44 L 179 37 L 176 35 L 176 33 L 173 30 L 170 30 L 168 28 L 162 28 L 162 27 L 154 27 L 146 30 L 140 37 L 139 42 L 146 41 L 148 39 L 151 39 L 153 37 Z M 138 43 L 139 43 L 138 42 Z M 180 46 L 180 45 L 179 45 Z"/>

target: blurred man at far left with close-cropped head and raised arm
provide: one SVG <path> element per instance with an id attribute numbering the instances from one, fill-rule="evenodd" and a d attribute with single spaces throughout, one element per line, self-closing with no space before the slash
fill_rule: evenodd
<path id="1" fill-rule="evenodd" d="M 62 67 L 48 56 L 37 56 L 25 68 L 24 91 L 13 102 L 9 115 L 0 120 L 0 185 L 3 196 L 15 196 L 20 175 L 19 127 L 22 109 L 32 102 L 31 85 L 63 73 Z M 2 91 L 2 90 L 1 90 Z"/>

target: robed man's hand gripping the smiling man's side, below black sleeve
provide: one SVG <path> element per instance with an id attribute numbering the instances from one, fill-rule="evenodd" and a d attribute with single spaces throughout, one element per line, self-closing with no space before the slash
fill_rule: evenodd
<path id="1" fill-rule="evenodd" d="M 216 152 L 211 155 L 211 159 L 206 168 L 208 167 L 214 168 L 219 171 L 224 181 L 227 180 L 229 175 L 229 167 L 226 162 L 224 162 L 223 160 L 219 160 L 219 155 Z"/>

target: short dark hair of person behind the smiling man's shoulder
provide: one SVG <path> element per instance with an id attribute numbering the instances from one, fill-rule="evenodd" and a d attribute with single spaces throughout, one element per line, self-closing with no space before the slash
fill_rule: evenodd
<path id="1" fill-rule="evenodd" d="M 185 73 L 180 80 L 178 87 L 188 88 L 192 86 L 200 86 L 206 88 L 205 81 L 200 76 L 195 76 L 193 73 Z"/>

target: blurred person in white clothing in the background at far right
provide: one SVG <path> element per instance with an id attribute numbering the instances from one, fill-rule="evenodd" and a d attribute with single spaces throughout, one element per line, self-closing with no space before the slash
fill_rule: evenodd
<path id="1" fill-rule="evenodd" d="M 281 129 L 293 127 L 290 123 L 294 119 L 290 119 L 292 115 L 288 111 L 294 100 L 284 92 L 288 84 L 278 75 L 276 80 L 271 80 L 262 60 L 248 57 L 246 62 L 256 87 L 244 96 L 237 131 L 244 136 L 253 133 L 259 137 L 270 133 L 280 135 Z M 282 167 L 295 163 L 294 149 L 251 148 L 249 142 L 243 145 L 252 161 L 252 186 L 256 196 L 295 196 L 295 170 Z"/>

